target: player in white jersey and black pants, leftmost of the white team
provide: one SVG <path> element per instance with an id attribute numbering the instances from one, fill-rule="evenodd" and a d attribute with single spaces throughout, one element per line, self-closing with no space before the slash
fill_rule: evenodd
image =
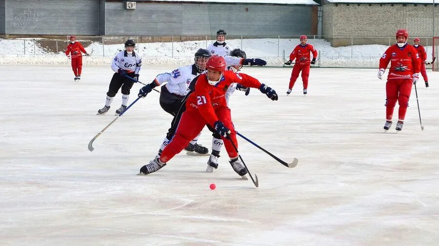
<path id="1" fill-rule="evenodd" d="M 126 76 L 130 76 L 135 80 L 139 80 L 140 67 L 142 66 L 142 58 L 140 54 L 134 52 L 136 43 L 132 39 L 125 42 L 125 50 L 116 54 L 111 64 L 111 69 L 115 71 L 108 87 L 107 98 L 105 99 L 105 106 L 98 110 L 98 114 L 105 114 L 110 109 L 111 102 L 114 96 L 118 93 L 120 87 L 122 92 L 122 105 L 117 114 L 125 110 L 128 104 L 130 89 L 133 87 L 134 81 Z"/>

